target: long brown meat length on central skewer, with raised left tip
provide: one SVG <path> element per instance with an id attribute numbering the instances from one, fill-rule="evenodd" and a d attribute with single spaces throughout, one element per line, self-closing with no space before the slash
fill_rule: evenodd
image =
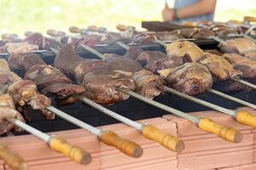
<path id="1" fill-rule="evenodd" d="M 75 54 L 71 44 L 61 48 L 60 53 L 55 57 L 55 67 L 81 83 L 87 97 L 103 105 L 128 98 L 117 88 L 128 90 L 135 88 L 130 72 L 112 71 L 106 61 L 81 58 Z"/>

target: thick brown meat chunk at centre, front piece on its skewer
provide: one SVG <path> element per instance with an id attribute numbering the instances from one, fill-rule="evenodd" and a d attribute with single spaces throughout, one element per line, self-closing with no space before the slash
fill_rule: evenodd
<path id="1" fill-rule="evenodd" d="M 82 84 L 88 98 L 102 105 L 111 105 L 129 98 L 117 88 L 133 90 L 135 83 L 130 77 L 129 72 L 96 69 L 84 75 Z"/>

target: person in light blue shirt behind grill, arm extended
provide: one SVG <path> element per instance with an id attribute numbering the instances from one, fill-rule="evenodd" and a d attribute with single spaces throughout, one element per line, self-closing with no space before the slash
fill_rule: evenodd
<path id="1" fill-rule="evenodd" d="M 174 8 L 162 10 L 164 21 L 182 23 L 184 21 L 195 22 L 199 20 L 211 21 L 217 0 L 175 0 Z"/>

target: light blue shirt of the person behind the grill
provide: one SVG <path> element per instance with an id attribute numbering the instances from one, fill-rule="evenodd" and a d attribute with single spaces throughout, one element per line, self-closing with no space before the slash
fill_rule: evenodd
<path id="1" fill-rule="evenodd" d="M 175 0 L 174 8 L 188 7 L 188 6 L 192 5 L 193 3 L 198 3 L 199 1 L 200 0 Z M 195 22 L 198 20 L 213 20 L 213 14 L 204 14 L 201 16 L 190 17 L 190 18 L 175 20 L 175 21 L 177 21 L 177 22 L 183 22 L 183 21 Z"/>

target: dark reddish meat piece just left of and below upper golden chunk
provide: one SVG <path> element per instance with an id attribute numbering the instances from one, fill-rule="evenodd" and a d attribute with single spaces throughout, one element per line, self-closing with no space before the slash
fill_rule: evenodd
<path id="1" fill-rule="evenodd" d="M 167 57 L 166 54 L 157 51 L 144 51 L 136 60 L 143 65 L 144 69 L 154 73 L 183 64 L 182 58 Z"/>

